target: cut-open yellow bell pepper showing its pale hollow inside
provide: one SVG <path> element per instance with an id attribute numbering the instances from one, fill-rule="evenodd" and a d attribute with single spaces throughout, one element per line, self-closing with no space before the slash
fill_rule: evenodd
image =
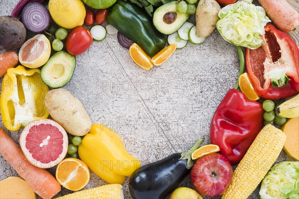
<path id="1" fill-rule="evenodd" d="M 4 126 L 18 130 L 32 120 L 47 118 L 44 100 L 49 88 L 42 82 L 39 69 L 10 68 L 2 81 L 0 108 Z"/>

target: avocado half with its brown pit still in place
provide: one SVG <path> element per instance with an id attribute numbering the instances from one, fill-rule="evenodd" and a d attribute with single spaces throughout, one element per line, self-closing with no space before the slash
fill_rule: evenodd
<path id="1" fill-rule="evenodd" d="M 153 13 L 153 25 L 163 34 L 172 34 L 189 18 L 189 14 L 176 11 L 176 1 L 165 3 Z"/>

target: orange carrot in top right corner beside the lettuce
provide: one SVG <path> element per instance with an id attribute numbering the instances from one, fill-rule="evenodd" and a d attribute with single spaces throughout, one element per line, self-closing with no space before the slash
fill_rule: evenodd
<path id="1" fill-rule="evenodd" d="M 287 0 L 259 0 L 278 29 L 291 33 L 299 25 L 299 13 Z"/>

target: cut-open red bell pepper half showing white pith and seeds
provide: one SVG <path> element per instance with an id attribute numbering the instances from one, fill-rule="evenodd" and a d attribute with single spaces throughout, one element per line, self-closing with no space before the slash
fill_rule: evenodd
<path id="1" fill-rule="evenodd" d="M 257 93 L 278 100 L 299 93 L 299 49 L 295 41 L 272 24 L 265 26 L 263 44 L 246 50 L 248 74 Z"/>

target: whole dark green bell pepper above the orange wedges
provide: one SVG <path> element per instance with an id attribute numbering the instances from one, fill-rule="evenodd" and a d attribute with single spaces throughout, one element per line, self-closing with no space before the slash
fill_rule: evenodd
<path id="1" fill-rule="evenodd" d="M 156 30 L 149 15 L 130 1 L 118 0 L 111 8 L 107 22 L 140 45 L 149 56 L 165 47 L 164 35 Z"/>

